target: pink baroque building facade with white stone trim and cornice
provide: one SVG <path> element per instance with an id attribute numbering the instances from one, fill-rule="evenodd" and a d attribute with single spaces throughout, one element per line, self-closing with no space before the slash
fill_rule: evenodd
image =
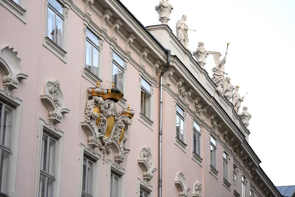
<path id="1" fill-rule="evenodd" d="M 0 26 L 1 197 L 281 196 L 167 25 L 118 0 L 0 0 Z"/>

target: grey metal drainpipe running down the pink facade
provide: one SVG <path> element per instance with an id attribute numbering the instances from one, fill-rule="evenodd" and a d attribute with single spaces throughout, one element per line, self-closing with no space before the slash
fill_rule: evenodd
<path id="1" fill-rule="evenodd" d="M 162 197 L 162 180 L 163 180 L 163 75 L 170 65 L 171 51 L 167 51 L 166 66 L 160 74 L 160 131 L 159 131 L 159 191 L 158 197 Z"/>

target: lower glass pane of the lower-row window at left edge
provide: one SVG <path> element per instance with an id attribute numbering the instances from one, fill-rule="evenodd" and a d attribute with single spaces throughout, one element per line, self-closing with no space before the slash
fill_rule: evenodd
<path id="1" fill-rule="evenodd" d="M 0 192 L 8 193 L 8 172 L 9 172 L 10 153 L 1 150 L 1 164 L 0 164 Z"/>

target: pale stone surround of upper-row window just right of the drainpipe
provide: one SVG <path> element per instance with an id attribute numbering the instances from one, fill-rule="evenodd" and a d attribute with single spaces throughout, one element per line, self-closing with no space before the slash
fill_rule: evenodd
<path id="1" fill-rule="evenodd" d="M 178 137 L 177 137 L 177 127 L 175 127 L 175 140 L 174 143 L 184 152 L 186 153 L 186 146 L 187 144 L 186 142 L 186 114 L 187 114 L 187 108 L 184 104 L 182 104 L 181 100 L 179 101 L 178 99 L 175 100 L 175 117 L 177 115 L 176 109 L 177 109 L 177 105 L 183 110 L 183 119 L 184 119 L 184 123 L 183 123 L 183 141 L 181 141 Z M 176 119 L 175 119 L 176 121 Z M 176 122 L 175 122 L 176 125 Z"/>

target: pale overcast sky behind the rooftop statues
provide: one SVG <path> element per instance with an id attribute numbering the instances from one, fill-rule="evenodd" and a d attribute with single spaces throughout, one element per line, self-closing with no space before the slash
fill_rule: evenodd
<path id="1" fill-rule="evenodd" d="M 158 0 L 121 0 L 145 26 L 161 24 Z M 198 42 L 222 57 L 252 115 L 249 143 L 275 186 L 295 185 L 295 0 L 169 0 L 168 25 L 187 15 L 189 50 Z M 205 69 L 215 66 L 208 56 Z M 242 107 L 241 107 L 242 109 Z"/>

